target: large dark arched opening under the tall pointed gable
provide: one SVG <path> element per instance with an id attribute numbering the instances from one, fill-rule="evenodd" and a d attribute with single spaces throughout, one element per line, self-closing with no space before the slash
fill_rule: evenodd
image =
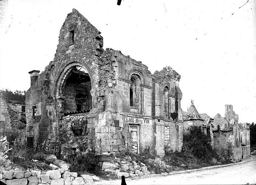
<path id="1" fill-rule="evenodd" d="M 91 80 L 88 72 L 81 66 L 74 66 L 67 74 L 63 87 L 64 112 L 81 112 L 92 109 L 90 90 Z"/>

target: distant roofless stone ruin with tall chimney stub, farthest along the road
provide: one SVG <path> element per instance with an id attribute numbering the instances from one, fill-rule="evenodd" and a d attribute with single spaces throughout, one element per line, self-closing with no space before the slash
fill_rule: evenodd
<path id="1" fill-rule="evenodd" d="M 225 105 L 224 118 L 219 113 L 214 117 L 214 149 L 221 156 L 240 159 L 250 156 L 249 124 L 239 124 L 238 119 L 232 105 Z"/>

